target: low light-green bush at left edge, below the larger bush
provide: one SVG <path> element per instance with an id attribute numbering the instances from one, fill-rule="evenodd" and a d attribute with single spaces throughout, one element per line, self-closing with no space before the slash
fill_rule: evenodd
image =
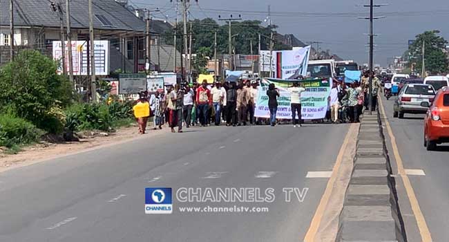
<path id="1" fill-rule="evenodd" d="M 0 114 L 0 146 L 12 148 L 39 140 L 44 132 L 32 123 L 10 114 Z"/>

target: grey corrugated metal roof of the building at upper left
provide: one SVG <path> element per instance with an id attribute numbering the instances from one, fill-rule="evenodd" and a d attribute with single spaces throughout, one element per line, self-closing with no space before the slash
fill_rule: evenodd
<path id="1" fill-rule="evenodd" d="M 15 1 L 15 26 L 45 26 L 59 28 L 59 17 L 50 7 L 49 0 L 14 0 Z M 0 0 L 0 24 L 9 26 L 9 1 Z M 65 3 L 62 4 L 64 15 Z M 93 25 L 97 30 L 126 30 L 145 31 L 145 22 L 135 16 L 133 12 L 115 2 L 114 0 L 93 0 L 94 17 Z M 88 0 L 70 1 L 70 16 L 72 28 L 88 28 Z M 100 21 L 106 19 L 106 23 Z M 65 17 L 64 17 L 65 20 Z M 169 24 L 163 21 L 153 21 L 151 32 L 163 32 L 169 28 Z"/>

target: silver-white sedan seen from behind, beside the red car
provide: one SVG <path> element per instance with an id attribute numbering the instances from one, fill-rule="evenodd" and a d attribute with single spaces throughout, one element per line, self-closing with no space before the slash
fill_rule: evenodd
<path id="1" fill-rule="evenodd" d="M 406 84 L 394 101 L 393 117 L 404 118 L 405 113 L 426 113 L 421 102 L 433 102 L 435 90 L 429 84 Z"/>

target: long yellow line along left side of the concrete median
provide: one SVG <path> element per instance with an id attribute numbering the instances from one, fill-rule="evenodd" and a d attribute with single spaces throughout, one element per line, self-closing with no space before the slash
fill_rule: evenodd
<path id="1" fill-rule="evenodd" d="M 321 201 L 318 204 L 318 207 L 316 208 L 314 217 L 312 218 L 312 222 L 310 222 L 309 230 L 307 230 L 307 233 L 305 234 L 303 240 L 304 242 L 313 242 L 315 239 L 316 232 L 318 232 L 318 227 L 320 226 L 321 223 L 321 218 L 323 218 L 325 208 L 327 206 L 327 203 L 329 203 L 329 198 L 330 195 L 332 194 L 332 189 L 336 181 L 338 169 L 340 169 L 341 162 L 343 161 L 343 156 L 345 154 L 347 143 L 350 142 L 351 129 L 355 129 L 356 125 L 357 124 L 351 124 L 350 129 L 348 129 L 346 133 L 345 140 L 343 140 L 343 145 L 341 145 L 340 151 L 338 152 L 338 156 L 335 160 L 334 168 L 332 169 L 332 176 L 330 176 L 329 180 L 327 181 L 325 192 L 321 197 Z"/>

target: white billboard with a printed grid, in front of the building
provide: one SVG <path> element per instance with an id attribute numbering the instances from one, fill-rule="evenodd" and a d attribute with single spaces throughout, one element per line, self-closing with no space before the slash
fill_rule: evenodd
<path id="1" fill-rule="evenodd" d="M 61 41 L 53 41 L 53 59 L 62 59 Z M 68 57 L 68 48 L 66 41 L 66 57 Z M 96 75 L 109 75 L 109 41 L 108 40 L 95 40 L 94 41 L 94 58 L 95 58 L 95 74 Z M 88 53 L 87 53 L 87 41 L 72 41 L 72 62 L 73 62 L 73 75 L 88 75 Z M 68 72 L 68 59 L 66 59 L 66 66 Z M 58 68 L 58 73 L 62 73 L 62 64 Z"/>

